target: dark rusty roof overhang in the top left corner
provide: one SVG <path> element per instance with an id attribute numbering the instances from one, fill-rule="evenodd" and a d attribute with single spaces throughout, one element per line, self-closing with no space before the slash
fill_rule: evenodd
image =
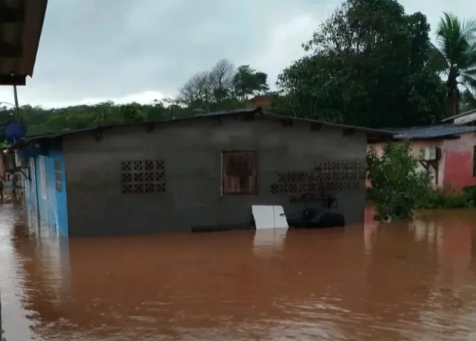
<path id="1" fill-rule="evenodd" d="M 0 85 L 33 75 L 48 0 L 0 0 Z"/>

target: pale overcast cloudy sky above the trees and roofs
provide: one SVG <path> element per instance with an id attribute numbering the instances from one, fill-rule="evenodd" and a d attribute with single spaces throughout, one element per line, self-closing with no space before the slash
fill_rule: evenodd
<path id="1" fill-rule="evenodd" d="M 174 95 L 220 58 L 276 76 L 340 0 L 49 0 L 33 78 L 20 104 L 58 107 L 151 102 Z M 443 11 L 473 13 L 475 0 L 402 0 L 432 28 Z M 0 102 L 13 102 L 1 87 Z"/>

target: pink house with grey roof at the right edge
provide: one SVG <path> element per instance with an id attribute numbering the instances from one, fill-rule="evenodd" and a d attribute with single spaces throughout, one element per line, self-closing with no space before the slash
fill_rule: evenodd
<path id="1" fill-rule="evenodd" d="M 410 140 L 413 156 L 433 175 L 436 188 L 476 185 L 476 126 L 440 125 L 394 129 L 394 141 Z M 384 144 L 372 144 L 382 153 Z M 369 183 L 367 181 L 367 186 Z"/>

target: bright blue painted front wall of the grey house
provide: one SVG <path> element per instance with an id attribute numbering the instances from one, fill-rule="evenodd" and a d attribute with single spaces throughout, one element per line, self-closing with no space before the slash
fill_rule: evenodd
<path id="1" fill-rule="evenodd" d="M 29 156 L 31 179 L 25 180 L 25 201 L 28 221 L 38 228 L 38 233 L 48 232 L 58 236 L 68 236 L 67 190 L 65 181 L 65 162 L 61 140 L 50 140 L 41 148 L 23 152 Z M 55 161 L 60 163 L 62 190 L 56 189 Z M 42 168 L 44 166 L 44 173 Z M 43 174 L 45 177 L 43 178 Z M 44 185 L 43 185 L 44 183 Z M 38 217 L 39 212 L 39 217 Z M 38 227 L 38 218 L 40 224 Z"/>

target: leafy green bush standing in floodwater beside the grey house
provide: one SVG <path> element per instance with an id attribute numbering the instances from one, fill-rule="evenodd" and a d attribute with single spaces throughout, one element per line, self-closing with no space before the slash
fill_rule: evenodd
<path id="1" fill-rule="evenodd" d="M 418 160 L 410 151 L 409 141 L 386 144 L 382 156 L 374 149 L 369 151 L 368 177 L 378 220 L 409 220 L 416 208 L 425 206 L 431 178 L 428 172 L 418 170 Z"/>

